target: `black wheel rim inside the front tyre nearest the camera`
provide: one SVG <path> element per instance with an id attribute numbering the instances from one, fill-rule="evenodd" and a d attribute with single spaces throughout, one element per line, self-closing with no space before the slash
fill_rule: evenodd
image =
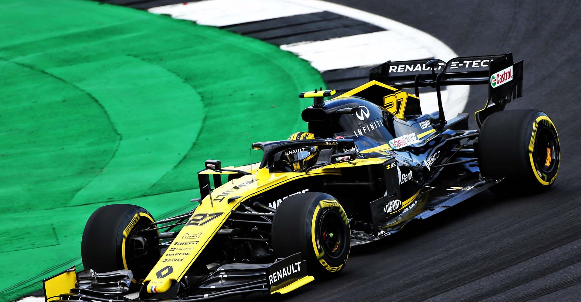
<path id="1" fill-rule="evenodd" d="M 327 211 L 321 217 L 320 238 L 325 253 L 336 259 L 345 250 L 345 230 L 339 214 Z"/>

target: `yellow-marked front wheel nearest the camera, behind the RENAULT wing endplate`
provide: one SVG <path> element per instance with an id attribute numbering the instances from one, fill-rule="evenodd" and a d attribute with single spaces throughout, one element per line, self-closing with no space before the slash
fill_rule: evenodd
<path id="1" fill-rule="evenodd" d="M 282 202 L 272 221 L 277 257 L 301 253 L 309 275 L 328 278 L 345 267 L 351 249 L 347 214 L 329 194 L 310 192 Z"/>

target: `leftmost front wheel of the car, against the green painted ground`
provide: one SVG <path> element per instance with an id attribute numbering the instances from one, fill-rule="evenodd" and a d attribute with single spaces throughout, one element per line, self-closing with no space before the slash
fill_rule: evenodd
<path id="1" fill-rule="evenodd" d="M 131 270 L 131 288 L 139 289 L 160 258 L 157 231 L 140 232 L 153 221 L 153 216 L 140 206 L 107 205 L 95 210 L 81 240 L 85 270 Z"/>

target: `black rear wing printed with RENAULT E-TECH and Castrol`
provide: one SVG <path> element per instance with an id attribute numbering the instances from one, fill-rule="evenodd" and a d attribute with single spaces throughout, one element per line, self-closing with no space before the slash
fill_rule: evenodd
<path id="1" fill-rule="evenodd" d="M 486 117 L 504 110 L 507 103 L 522 96 L 523 62 L 512 62 L 512 53 L 493 56 L 457 57 L 444 62 L 438 59 L 387 61 L 370 71 L 370 81 L 386 83 L 394 88 L 436 88 L 440 126 L 446 123 L 442 109 L 440 86 L 488 85 L 486 106 L 475 112 L 478 126 Z M 492 103 L 491 103 L 492 102 Z"/>

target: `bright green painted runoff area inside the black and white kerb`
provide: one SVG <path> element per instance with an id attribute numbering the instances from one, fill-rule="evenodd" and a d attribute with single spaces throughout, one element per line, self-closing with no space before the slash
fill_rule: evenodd
<path id="1" fill-rule="evenodd" d="M 83 0 L 1 1 L 0 70 L 0 301 L 81 265 L 99 206 L 193 208 L 203 161 L 306 130 L 324 86 L 274 45 Z"/>

